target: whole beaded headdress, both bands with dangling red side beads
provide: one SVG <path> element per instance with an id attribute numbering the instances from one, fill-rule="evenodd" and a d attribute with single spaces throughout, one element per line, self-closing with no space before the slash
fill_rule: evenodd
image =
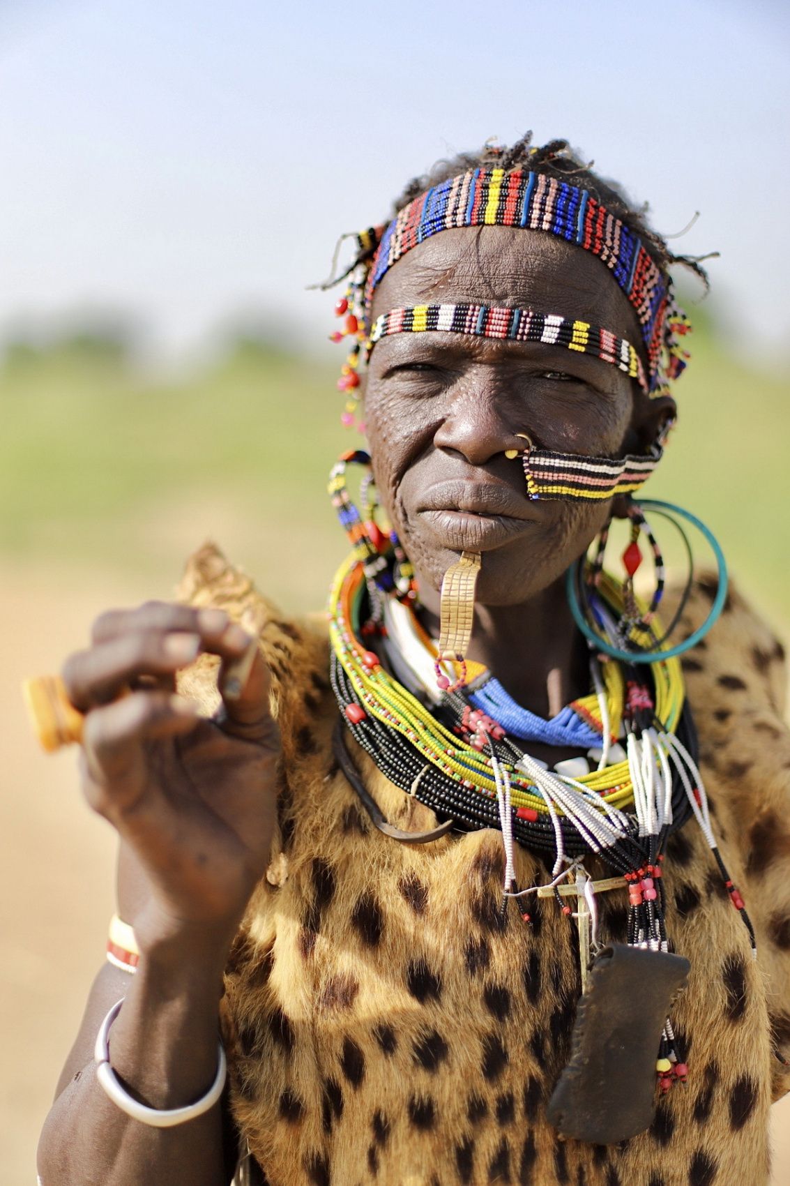
<path id="1" fill-rule="evenodd" d="M 442 230 L 493 225 L 544 231 L 598 256 L 637 314 L 642 330 L 639 351 L 607 330 L 546 310 L 429 305 L 390 310 L 371 324 L 375 289 L 407 251 Z M 338 381 L 349 396 L 342 417 L 346 425 L 355 419 L 359 362 L 367 361 L 380 338 L 391 333 L 438 329 L 566 345 L 626 370 L 651 397 L 667 395 L 670 381 L 686 366 L 688 353 L 682 339 L 690 325 L 675 301 L 665 270 L 638 234 L 588 190 L 558 178 L 523 168 L 474 168 L 431 186 L 403 206 L 389 224 L 358 235 L 357 247 L 358 262 L 351 270 L 345 296 L 336 305 L 344 327 L 332 334 L 336 342 L 344 337 L 353 339 Z M 364 432 L 364 425 L 361 431 Z"/>

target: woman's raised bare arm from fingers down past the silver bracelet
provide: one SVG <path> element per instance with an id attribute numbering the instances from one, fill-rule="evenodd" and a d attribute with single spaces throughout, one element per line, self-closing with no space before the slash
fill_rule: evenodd
<path id="1" fill-rule="evenodd" d="M 269 674 L 255 636 L 224 610 L 149 601 L 102 614 L 91 638 L 66 659 L 63 683 L 84 718 L 85 798 L 130 862 L 119 868 L 119 908 L 141 959 L 120 991 L 100 974 L 42 1136 L 39 1173 L 44 1186 L 221 1186 L 231 1177 L 221 1103 L 178 1127 L 152 1127 L 130 1118 L 122 1097 L 107 1097 L 91 1057 L 125 995 L 109 1064 L 139 1103 L 183 1108 L 215 1083 L 222 971 L 276 820 Z M 199 653 L 221 661 L 223 710 L 211 719 L 170 690 Z M 225 687 L 232 670 L 240 686 Z"/>

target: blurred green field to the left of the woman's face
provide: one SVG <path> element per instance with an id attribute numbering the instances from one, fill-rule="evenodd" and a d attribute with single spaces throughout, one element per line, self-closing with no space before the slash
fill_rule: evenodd
<path id="1" fill-rule="evenodd" d="M 336 377 L 332 359 L 259 349 L 168 381 L 69 352 L 6 366 L 0 556 L 133 572 L 167 595 L 212 537 L 283 605 L 323 605 L 344 551 L 326 496 L 349 447 Z"/>

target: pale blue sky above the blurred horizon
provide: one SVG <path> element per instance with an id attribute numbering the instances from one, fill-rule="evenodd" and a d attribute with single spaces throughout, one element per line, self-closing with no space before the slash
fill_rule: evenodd
<path id="1" fill-rule="evenodd" d="M 340 231 L 489 136 L 565 135 L 718 249 L 741 347 L 790 345 L 790 17 L 683 6 L 2 0 L 0 333 L 121 311 L 170 355 L 259 313 L 317 344 Z"/>

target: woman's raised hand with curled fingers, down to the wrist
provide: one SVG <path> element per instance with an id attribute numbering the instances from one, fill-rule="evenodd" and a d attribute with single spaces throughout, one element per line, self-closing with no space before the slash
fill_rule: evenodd
<path id="1" fill-rule="evenodd" d="M 149 908 L 134 920 L 141 948 L 146 931 L 154 942 L 195 924 L 232 936 L 266 867 L 279 738 L 262 657 L 212 720 L 176 695 L 176 672 L 200 651 L 222 659 L 222 693 L 249 642 L 224 611 L 147 602 L 100 617 L 91 646 L 64 665 L 69 697 L 87 714 L 85 797 L 148 882 Z"/>

